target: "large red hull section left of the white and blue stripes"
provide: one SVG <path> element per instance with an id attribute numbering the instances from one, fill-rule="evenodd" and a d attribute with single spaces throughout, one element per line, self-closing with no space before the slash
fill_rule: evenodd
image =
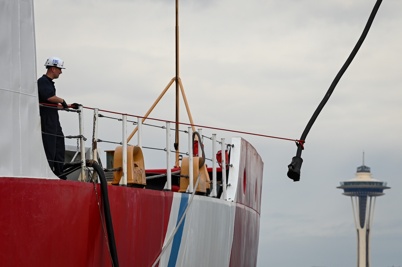
<path id="1" fill-rule="evenodd" d="M 151 266 L 162 248 L 173 193 L 108 190 L 119 265 Z M 2 266 L 111 266 L 92 183 L 0 178 L 0 195 Z"/>

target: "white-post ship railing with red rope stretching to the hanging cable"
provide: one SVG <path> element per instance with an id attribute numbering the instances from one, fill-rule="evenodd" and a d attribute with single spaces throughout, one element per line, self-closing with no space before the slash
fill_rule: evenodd
<path id="1" fill-rule="evenodd" d="M 43 104 L 41 104 L 43 105 Z M 45 104 L 47 105 L 47 104 Z M 133 134 L 135 133 L 135 131 L 138 131 L 137 134 L 137 138 L 138 138 L 138 146 L 142 149 L 142 148 L 147 148 L 147 149 L 157 149 L 157 150 L 163 150 L 166 151 L 166 176 L 167 176 L 167 182 L 166 182 L 166 189 L 167 190 L 171 190 L 172 189 L 172 184 L 171 184 L 171 177 L 172 177 L 172 173 L 171 173 L 171 168 L 170 168 L 170 155 L 171 152 L 173 153 L 178 153 L 178 154 L 185 154 L 185 155 L 189 155 L 189 160 L 192 159 L 193 156 L 193 141 L 192 141 L 192 135 L 193 132 L 195 132 L 195 126 L 198 127 L 203 127 L 203 128 L 208 128 L 208 129 L 214 129 L 214 130 L 222 130 L 222 131 L 228 131 L 228 132 L 236 132 L 236 133 L 240 133 L 240 134 L 246 134 L 246 135 L 254 135 L 254 136 L 260 136 L 260 137 L 268 137 L 268 138 L 275 138 L 275 139 L 282 139 L 282 140 L 288 140 L 288 141 L 293 141 L 296 143 L 296 145 L 299 145 L 300 141 L 303 140 L 298 140 L 298 139 L 289 139 L 289 138 L 284 138 L 284 137 L 275 137 L 275 136 L 270 136 L 270 135 L 261 135 L 261 134 L 256 134 L 256 133 L 251 133 L 251 132 L 242 132 L 242 131 L 238 131 L 238 130 L 228 130 L 228 129 L 222 129 L 222 128 L 215 128 L 215 127 L 209 127 L 209 126 L 201 126 L 201 125 L 195 125 L 195 124 L 189 124 L 189 123 L 184 123 L 184 122 L 173 122 L 173 121 L 168 121 L 168 120 L 161 120 L 161 119 L 156 119 L 156 118 L 149 118 L 146 116 L 135 116 L 135 115 L 130 115 L 130 114 L 124 114 L 124 113 L 119 113 L 119 112 L 113 112 L 113 111 L 108 111 L 108 110 L 100 110 L 98 108 L 89 108 L 89 107 L 84 107 L 84 106 L 79 106 L 78 110 L 70 110 L 70 109 L 64 109 L 64 108 L 59 108 L 59 107 L 55 107 L 57 105 L 48 105 L 48 106 L 53 106 L 53 108 L 58 108 L 59 110 L 66 110 L 66 111 L 75 111 L 78 112 L 79 116 L 79 124 L 80 124 L 80 135 L 76 136 L 74 138 L 80 139 L 80 147 L 81 147 L 81 178 L 79 179 L 80 181 L 85 181 L 85 170 L 88 170 L 88 167 L 86 167 L 86 163 L 84 161 L 85 157 L 85 143 L 84 141 L 86 140 L 86 138 L 84 137 L 84 108 L 86 109 L 90 109 L 90 110 L 94 110 L 94 121 L 93 121 L 93 132 L 92 132 L 92 153 L 90 155 L 90 159 L 97 161 L 98 160 L 98 151 L 97 151 L 97 143 L 98 142 L 108 142 L 108 143 L 116 143 L 116 144 L 120 144 L 122 145 L 122 152 L 123 152 L 123 175 L 122 178 L 120 179 L 119 184 L 123 185 L 123 186 L 127 186 L 127 142 L 130 140 L 130 138 L 133 136 Z M 109 117 L 109 116 L 104 116 L 99 114 L 99 111 L 102 112 L 109 112 L 112 114 L 119 114 L 121 115 L 121 118 L 113 118 L 113 117 Z M 149 114 L 149 113 L 147 113 Z M 131 121 L 131 120 L 127 120 L 127 116 L 130 117 L 135 117 L 137 118 L 137 122 L 135 121 Z M 98 139 L 98 118 L 100 117 L 105 117 L 105 118 L 112 118 L 112 119 L 116 119 L 116 120 L 121 120 L 122 121 L 122 141 L 121 142 L 112 142 L 112 141 L 103 141 Z M 153 121 L 160 121 L 160 122 L 165 122 L 166 126 L 156 126 L 156 125 L 152 125 L 152 124 L 145 124 L 143 123 L 145 119 L 148 120 L 153 120 Z M 131 135 L 129 136 L 129 138 L 127 139 L 127 122 L 133 122 L 133 124 L 137 124 L 137 129 L 134 130 Z M 171 129 L 170 128 L 170 123 L 174 123 L 174 124 L 181 124 L 181 125 L 187 125 L 187 126 L 191 126 L 188 127 L 187 131 L 184 130 L 178 130 L 178 129 Z M 166 148 L 164 149 L 159 149 L 159 148 L 151 148 L 151 147 L 143 147 L 142 146 L 142 125 L 150 125 L 150 126 L 156 126 L 159 128 L 164 128 L 166 129 Z M 170 130 L 175 130 L 175 131 L 179 131 L 179 132 L 186 132 L 189 135 L 189 152 L 187 153 L 183 153 L 183 152 L 178 152 L 178 151 L 171 151 L 170 150 Z M 202 128 L 198 129 L 198 133 L 200 134 L 200 136 L 205 137 L 204 135 L 202 135 Z M 72 138 L 72 137 L 66 137 L 66 138 Z M 217 167 L 216 167 L 216 163 L 219 163 L 219 165 L 222 167 L 222 181 L 220 186 L 222 186 L 222 196 L 221 198 L 223 199 L 227 199 L 226 196 L 226 189 L 227 189 L 227 184 L 226 184 L 226 167 L 231 167 L 231 164 L 226 163 L 226 149 L 228 149 L 228 147 L 233 147 L 233 145 L 231 144 L 226 144 L 225 143 L 225 139 L 221 139 L 220 142 L 218 142 L 216 140 L 216 134 L 213 134 L 212 137 L 206 137 L 207 139 L 212 140 L 212 159 L 208 159 L 209 161 L 212 161 L 212 190 L 211 190 L 211 194 L 210 196 L 213 197 L 217 197 Z M 201 138 L 202 139 L 202 138 Z M 222 146 L 222 162 L 217 162 L 216 159 L 216 143 L 219 143 Z M 304 141 L 303 141 L 304 143 Z M 198 151 L 201 151 L 201 145 L 202 145 L 202 140 L 198 142 Z M 226 147 L 225 147 L 226 146 Z M 78 148 L 77 148 L 78 150 Z M 177 161 L 178 162 L 178 161 Z M 178 163 L 176 163 L 178 164 Z M 189 167 L 193 167 L 192 164 L 190 164 Z M 108 171 L 117 171 L 115 169 L 110 169 Z M 96 175 L 93 176 L 94 179 L 96 179 Z M 194 188 L 193 188 L 193 171 L 189 172 L 189 192 L 193 192 Z M 229 184 L 230 185 L 230 184 Z"/>

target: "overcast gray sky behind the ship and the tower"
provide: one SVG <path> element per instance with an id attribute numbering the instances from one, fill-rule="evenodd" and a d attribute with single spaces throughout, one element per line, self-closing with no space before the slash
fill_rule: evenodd
<path id="1" fill-rule="evenodd" d="M 180 77 L 194 122 L 298 139 L 374 3 L 181 1 Z M 55 85 L 67 102 L 141 116 L 174 77 L 173 0 L 36 0 L 34 7 L 38 76 L 48 57 L 62 58 L 66 70 Z M 356 265 L 351 202 L 336 186 L 355 176 L 363 150 L 373 177 L 392 188 L 375 206 L 372 266 L 402 265 L 401 9 L 398 0 L 381 4 L 306 139 L 301 181 L 286 176 L 293 142 L 241 135 L 265 163 L 258 266 Z M 75 116 L 62 114 L 65 135 L 78 133 Z M 92 113 L 85 116 L 90 135 Z M 151 117 L 174 120 L 173 86 Z M 188 122 L 183 102 L 180 118 Z M 120 122 L 99 127 L 100 139 L 121 141 Z M 212 133 L 239 136 L 203 130 Z M 165 140 L 164 130 L 144 126 L 144 146 L 164 148 Z M 187 136 L 180 142 L 187 151 Z M 211 153 L 210 141 L 205 147 Z M 145 161 L 163 168 L 164 154 L 145 151 Z"/>

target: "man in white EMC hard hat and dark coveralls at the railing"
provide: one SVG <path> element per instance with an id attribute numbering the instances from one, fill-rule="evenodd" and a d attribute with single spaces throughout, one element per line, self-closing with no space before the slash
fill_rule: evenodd
<path id="1" fill-rule="evenodd" d="M 38 79 L 38 93 L 39 103 L 44 104 L 62 104 L 63 108 L 68 108 L 64 99 L 56 96 L 56 88 L 53 79 L 57 79 L 62 74 L 63 61 L 58 57 L 49 57 L 45 66 L 47 69 L 46 74 Z M 74 109 L 78 109 L 79 104 L 74 103 L 70 105 Z M 39 107 L 39 114 L 41 115 L 41 128 L 43 148 L 45 149 L 46 158 L 50 169 L 60 179 L 66 180 L 67 177 L 63 172 L 64 163 L 64 135 L 62 126 L 59 122 L 59 114 L 56 108 L 49 108 L 45 106 Z M 55 136 L 58 135 L 58 136 Z M 55 162 L 59 161 L 59 162 Z"/>

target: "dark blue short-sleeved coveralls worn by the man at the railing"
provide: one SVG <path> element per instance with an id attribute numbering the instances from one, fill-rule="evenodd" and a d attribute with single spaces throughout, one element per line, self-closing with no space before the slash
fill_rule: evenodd
<path id="1" fill-rule="evenodd" d="M 53 79 L 47 77 L 43 74 L 42 77 L 38 79 L 38 93 L 39 93 L 39 103 L 45 104 L 55 104 L 47 101 L 48 98 L 56 95 L 56 88 L 54 86 Z M 64 163 L 58 163 L 54 161 L 64 162 L 64 137 L 56 137 L 54 135 L 64 136 L 62 131 L 62 126 L 59 122 L 58 110 L 55 108 L 48 108 L 44 106 L 39 107 L 39 114 L 41 115 L 41 128 L 43 148 L 45 149 L 46 158 L 50 169 L 57 176 L 63 175 L 62 171 Z M 47 135 L 49 133 L 51 135 Z M 61 176 L 60 179 L 66 180 L 65 175 Z"/>

